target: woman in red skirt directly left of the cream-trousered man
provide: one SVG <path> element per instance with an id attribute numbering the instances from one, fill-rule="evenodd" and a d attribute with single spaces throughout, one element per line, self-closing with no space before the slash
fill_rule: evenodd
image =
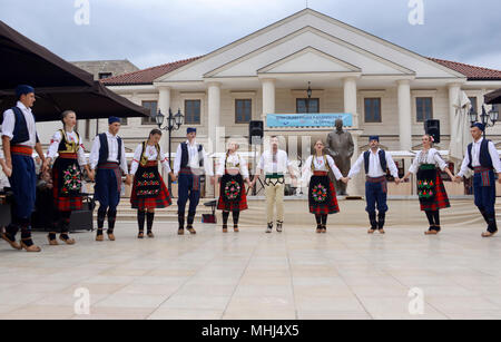
<path id="1" fill-rule="evenodd" d="M 222 177 L 217 208 L 223 211 L 223 233 L 228 232 L 229 212 L 233 213 L 233 229 L 238 232 L 240 212 L 248 208 L 244 182 L 250 186 L 250 180 L 247 163 L 237 153 L 238 147 L 237 143 L 228 141 L 228 150 L 217 166 L 216 182 Z"/>

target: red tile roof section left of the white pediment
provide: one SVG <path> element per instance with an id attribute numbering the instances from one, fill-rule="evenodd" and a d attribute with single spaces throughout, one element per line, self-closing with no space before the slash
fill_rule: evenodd
<path id="1" fill-rule="evenodd" d="M 179 69 L 180 67 L 190 63 L 200 57 L 194 57 L 189 59 L 178 60 L 166 65 L 143 69 L 129 74 L 124 74 L 115 77 L 105 78 L 101 80 L 106 86 L 131 86 L 131 85 L 151 85 L 153 81 L 160 76 Z"/>

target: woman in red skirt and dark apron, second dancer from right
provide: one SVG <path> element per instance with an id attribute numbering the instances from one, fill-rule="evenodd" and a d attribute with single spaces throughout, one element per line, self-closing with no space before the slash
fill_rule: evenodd
<path id="1" fill-rule="evenodd" d="M 411 174 L 418 175 L 418 196 L 421 211 L 426 213 L 430 223 L 430 228 L 424 233 L 426 235 L 440 233 L 440 209 L 451 206 L 440 170 L 448 173 L 451 179 L 454 178 L 448 163 L 433 148 L 433 143 L 434 139 L 431 135 L 425 134 L 423 136 L 423 149 L 418 153 L 411 168 L 403 178 L 405 180 L 409 179 Z"/>

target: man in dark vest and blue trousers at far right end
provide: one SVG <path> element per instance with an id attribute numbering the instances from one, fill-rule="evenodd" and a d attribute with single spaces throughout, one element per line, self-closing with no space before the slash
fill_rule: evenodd
<path id="1" fill-rule="evenodd" d="M 454 180 L 460 183 L 462 177 L 469 175 L 470 169 L 474 170 L 473 192 L 475 205 L 488 224 L 488 231 L 482 236 L 491 237 L 498 233 L 494 211 L 494 172 L 498 174 L 498 182 L 501 183 L 501 162 L 494 144 L 482 138 L 484 130 L 485 125 L 480 123 L 474 124 L 471 128 L 470 133 L 474 143 L 468 146 L 468 153 L 461 165 L 461 170 Z"/>

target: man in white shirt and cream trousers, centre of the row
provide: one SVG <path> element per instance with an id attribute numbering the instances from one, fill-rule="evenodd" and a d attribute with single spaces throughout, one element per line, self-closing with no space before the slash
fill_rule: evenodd
<path id="1" fill-rule="evenodd" d="M 265 188 L 266 188 L 266 213 L 267 213 L 267 228 L 266 233 L 273 232 L 273 216 L 276 206 L 276 231 L 278 233 L 283 229 L 284 224 L 284 189 L 285 189 L 285 173 L 288 170 L 291 178 L 296 179 L 292 163 L 288 160 L 287 153 L 278 149 L 278 138 L 273 136 L 271 138 L 271 150 L 265 150 L 261 156 L 257 165 L 256 175 L 250 184 L 252 187 L 256 184 L 257 178 L 265 172 Z"/>

